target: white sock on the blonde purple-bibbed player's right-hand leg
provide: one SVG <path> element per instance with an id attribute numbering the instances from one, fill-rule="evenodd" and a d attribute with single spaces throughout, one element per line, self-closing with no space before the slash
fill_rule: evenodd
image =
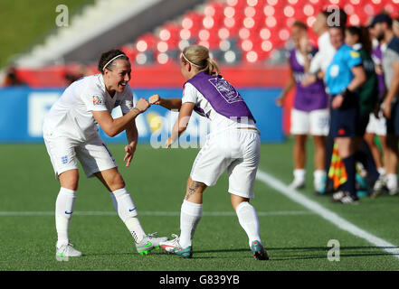
<path id="1" fill-rule="evenodd" d="M 259 221 L 255 208 L 253 208 L 248 201 L 242 201 L 235 212 L 241 227 L 245 230 L 245 233 L 247 233 L 250 247 L 253 241 L 261 242 L 261 237 L 259 236 Z"/>

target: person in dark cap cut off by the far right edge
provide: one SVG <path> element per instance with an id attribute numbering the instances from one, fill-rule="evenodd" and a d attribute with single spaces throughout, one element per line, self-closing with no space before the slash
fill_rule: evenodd
<path id="1" fill-rule="evenodd" d="M 375 182 L 374 195 L 382 192 L 386 186 L 389 194 L 398 193 L 397 169 L 399 162 L 399 38 L 394 35 L 391 17 L 378 14 L 371 26 L 375 27 L 378 39 L 384 39 L 386 50 L 383 52 L 383 70 L 385 75 L 386 96 L 383 103 L 386 117 L 385 173 Z"/>

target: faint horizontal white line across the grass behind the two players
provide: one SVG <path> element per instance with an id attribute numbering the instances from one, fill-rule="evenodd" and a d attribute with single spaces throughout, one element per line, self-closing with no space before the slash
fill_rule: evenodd
<path id="1" fill-rule="evenodd" d="M 258 216 L 298 216 L 298 215 L 312 215 L 313 212 L 308 210 L 277 210 L 277 211 L 260 211 Z M 117 216 L 115 211 L 75 211 L 73 215 L 80 216 Z M 138 210 L 139 216 L 180 216 L 180 211 L 140 211 Z M 0 216 L 6 217 L 19 217 L 19 216 L 54 216 L 53 211 L 0 211 Z M 215 217 L 231 217 L 236 216 L 233 211 L 204 211 L 203 216 L 215 216 Z"/>

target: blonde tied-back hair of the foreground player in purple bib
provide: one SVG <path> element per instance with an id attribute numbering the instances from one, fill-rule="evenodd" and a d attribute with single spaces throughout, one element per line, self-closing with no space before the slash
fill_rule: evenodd
<path id="1" fill-rule="evenodd" d="M 216 61 L 209 57 L 209 50 L 202 45 L 190 45 L 185 47 L 181 60 L 189 62 L 197 68 L 198 72 L 205 72 L 209 75 L 218 75 L 219 66 Z"/>

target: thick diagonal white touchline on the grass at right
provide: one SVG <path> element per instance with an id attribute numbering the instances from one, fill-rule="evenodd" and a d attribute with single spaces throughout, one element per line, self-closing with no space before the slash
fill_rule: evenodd
<path id="1" fill-rule="evenodd" d="M 274 190 L 280 191 L 280 193 L 290 198 L 290 200 L 299 203 L 305 208 L 315 212 L 320 217 L 327 219 L 338 228 L 346 230 L 347 232 L 358 238 L 363 238 L 367 242 L 375 245 L 376 247 L 381 247 L 385 250 L 385 252 L 393 254 L 396 258 L 399 258 L 399 247 L 385 241 L 385 239 L 383 238 L 376 237 L 375 235 L 367 232 L 362 228 L 358 228 L 356 225 L 347 221 L 347 219 L 343 219 L 339 217 L 335 212 L 324 208 L 317 201 L 310 200 L 303 194 L 299 193 L 299 191 L 290 189 L 285 183 L 280 182 L 280 180 L 271 176 L 269 173 L 258 170 L 256 178 L 261 182 L 264 182 L 265 184 L 271 186 L 271 188 L 273 188 Z"/>

